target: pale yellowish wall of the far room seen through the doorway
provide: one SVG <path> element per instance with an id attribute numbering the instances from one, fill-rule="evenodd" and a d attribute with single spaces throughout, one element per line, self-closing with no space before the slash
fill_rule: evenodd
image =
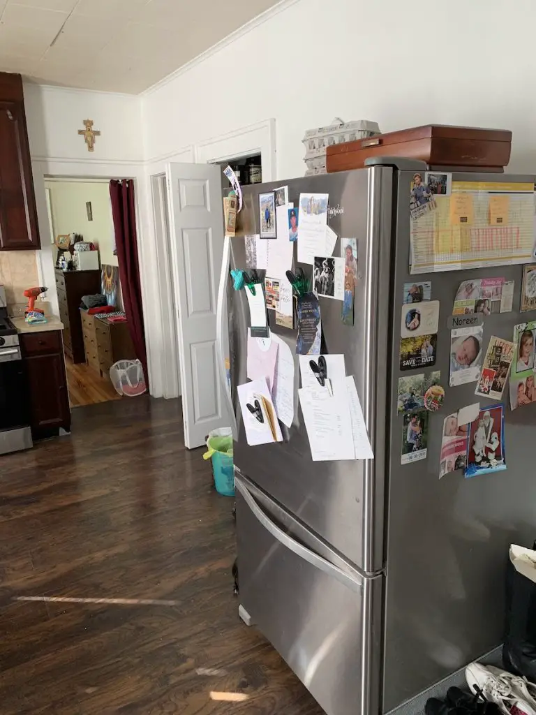
<path id="1" fill-rule="evenodd" d="M 47 179 L 55 235 L 79 233 L 99 248 L 101 263 L 119 265 L 114 256 L 110 191 L 108 182 L 55 181 Z M 86 202 L 91 202 L 89 220 Z"/>

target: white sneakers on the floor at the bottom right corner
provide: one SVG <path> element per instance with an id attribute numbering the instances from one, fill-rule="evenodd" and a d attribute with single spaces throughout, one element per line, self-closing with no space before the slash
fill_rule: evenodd
<path id="1" fill-rule="evenodd" d="M 536 686 L 495 666 L 470 663 L 465 679 L 472 693 L 482 692 L 504 715 L 536 715 Z"/>

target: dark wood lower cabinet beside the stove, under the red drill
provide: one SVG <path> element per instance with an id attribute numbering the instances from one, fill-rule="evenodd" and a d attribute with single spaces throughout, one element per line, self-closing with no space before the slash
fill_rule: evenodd
<path id="1" fill-rule="evenodd" d="M 71 429 L 71 410 L 65 373 L 61 330 L 19 335 L 30 400 L 34 439 Z"/>

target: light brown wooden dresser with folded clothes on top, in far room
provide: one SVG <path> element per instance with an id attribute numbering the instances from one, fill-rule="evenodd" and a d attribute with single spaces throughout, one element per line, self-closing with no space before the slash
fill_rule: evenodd
<path id="1" fill-rule="evenodd" d="M 109 378 L 117 360 L 136 360 L 134 345 L 126 322 L 110 322 L 81 310 L 86 363 L 101 377 Z"/>

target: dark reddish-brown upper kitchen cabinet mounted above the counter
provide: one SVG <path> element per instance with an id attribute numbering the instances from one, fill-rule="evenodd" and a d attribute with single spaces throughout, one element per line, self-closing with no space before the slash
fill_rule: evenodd
<path id="1" fill-rule="evenodd" d="M 0 250 L 40 247 L 22 79 L 0 72 Z"/>

